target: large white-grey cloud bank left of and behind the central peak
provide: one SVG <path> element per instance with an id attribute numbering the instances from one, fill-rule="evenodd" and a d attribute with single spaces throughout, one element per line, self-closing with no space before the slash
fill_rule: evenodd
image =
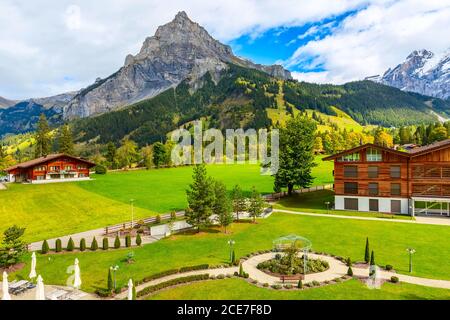
<path id="1" fill-rule="evenodd" d="M 48 96 L 106 77 L 181 10 L 227 42 L 320 21 L 365 1 L 1 0 L 0 96 Z"/>

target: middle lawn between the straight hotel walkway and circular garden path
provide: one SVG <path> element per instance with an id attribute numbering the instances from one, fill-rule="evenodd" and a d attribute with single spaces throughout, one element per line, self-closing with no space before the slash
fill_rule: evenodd
<path id="1" fill-rule="evenodd" d="M 352 260 L 362 260 L 366 237 L 379 265 L 391 264 L 401 273 L 408 272 L 406 248 L 417 250 L 413 275 L 450 280 L 449 229 L 446 226 L 411 225 L 386 221 L 364 221 L 327 217 L 298 216 L 274 213 L 257 224 L 235 223 L 232 234 L 217 230 L 195 235 L 176 235 L 142 248 L 133 249 L 135 263 L 124 261 L 129 250 L 38 255 L 37 271 L 46 283 L 65 284 L 66 269 L 75 258 L 80 260 L 83 289 L 93 291 L 104 287 L 108 268 L 118 265 L 119 286 L 129 278 L 142 279 L 164 270 L 203 263 L 222 264 L 229 257 L 227 241 L 236 241 L 236 256 L 272 248 L 273 239 L 297 234 L 309 238 L 313 249 Z M 27 258 L 28 262 L 29 259 Z M 27 277 L 29 265 L 18 272 Z"/>

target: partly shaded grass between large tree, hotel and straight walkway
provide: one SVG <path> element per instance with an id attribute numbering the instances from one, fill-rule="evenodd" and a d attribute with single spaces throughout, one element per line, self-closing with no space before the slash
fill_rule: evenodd
<path id="1" fill-rule="evenodd" d="M 292 210 L 299 212 L 311 212 L 321 214 L 337 214 L 344 216 L 371 217 L 380 219 L 413 219 L 408 215 L 388 214 L 380 212 L 362 212 L 362 211 L 345 211 L 345 210 L 327 210 L 325 202 L 334 202 L 334 192 L 331 190 L 321 190 L 302 194 L 294 194 L 291 197 L 282 198 L 278 201 L 274 208 L 283 210 Z M 331 205 L 330 205 L 331 206 Z"/>

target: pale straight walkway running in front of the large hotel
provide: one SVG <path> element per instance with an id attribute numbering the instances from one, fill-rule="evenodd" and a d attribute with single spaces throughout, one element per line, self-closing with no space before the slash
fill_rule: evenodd
<path id="1" fill-rule="evenodd" d="M 401 223 L 412 223 L 412 224 L 432 224 L 432 225 L 443 225 L 450 226 L 450 218 L 436 218 L 436 217 L 415 217 L 416 220 L 403 220 L 403 219 L 383 219 L 375 217 L 359 217 L 359 216 L 344 216 L 337 214 L 324 214 L 324 213 L 311 213 L 311 212 L 301 212 L 293 210 L 283 210 L 283 209 L 273 209 L 274 212 L 283 212 L 290 214 L 298 214 L 303 216 L 311 217 L 328 217 L 328 218 L 338 218 L 338 219 L 356 219 L 356 220 L 369 220 L 369 221 L 385 221 L 385 222 L 401 222 Z"/>

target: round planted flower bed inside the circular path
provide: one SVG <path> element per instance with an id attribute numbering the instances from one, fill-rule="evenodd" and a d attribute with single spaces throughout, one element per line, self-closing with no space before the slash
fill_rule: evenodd
<path id="1" fill-rule="evenodd" d="M 306 274 L 326 271 L 330 266 L 328 262 L 320 259 L 308 259 Z M 277 275 L 304 274 L 303 256 L 277 254 L 274 259 L 261 262 L 257 268 L 266 273 Z"/>

